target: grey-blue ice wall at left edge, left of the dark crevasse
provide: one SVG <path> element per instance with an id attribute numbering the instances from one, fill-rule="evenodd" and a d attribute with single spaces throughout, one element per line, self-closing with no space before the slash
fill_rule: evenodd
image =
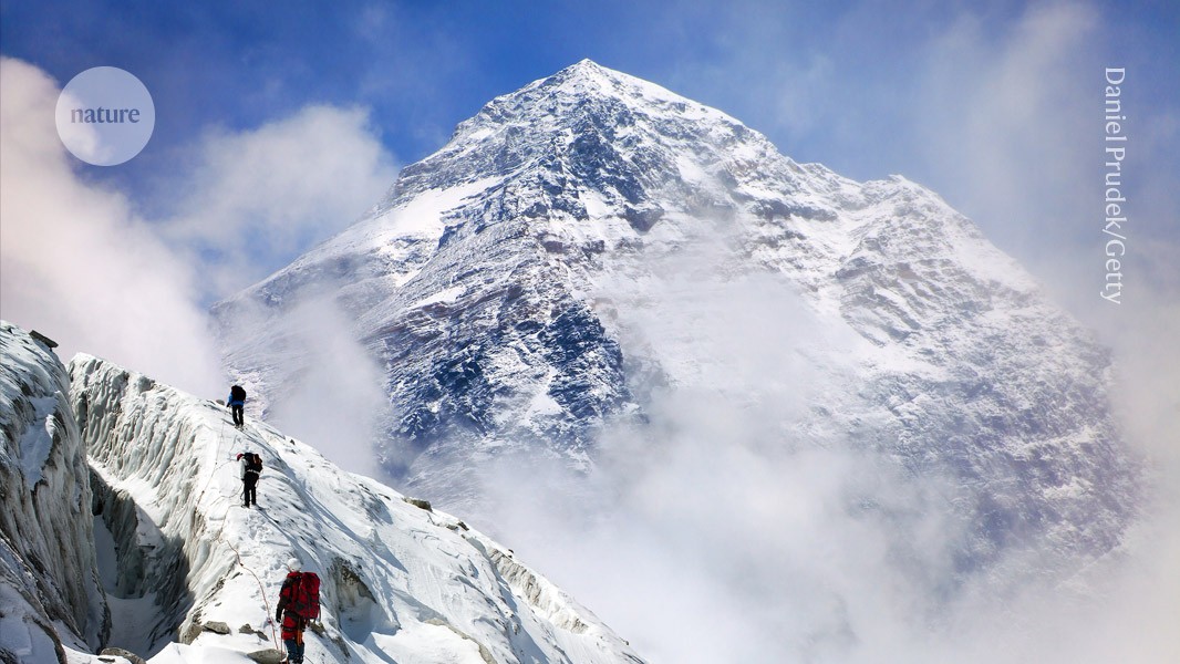
<path id="1" fill-rule="evenodd" d="M 0 658 L 64 662 L 109 630 L 86 452 L 57 356 L 0 322 Z"/>

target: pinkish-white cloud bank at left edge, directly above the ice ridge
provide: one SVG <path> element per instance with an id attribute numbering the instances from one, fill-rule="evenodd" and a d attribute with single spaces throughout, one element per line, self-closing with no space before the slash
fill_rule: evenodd
<path id="1" fill-rule="evenodd" d="M 194 274 L 117 191 L 86 182 L 54 127 L 59 88 L 0 60 L 0 315 L 197 394 L 219 392 Z M 216 392 L 210 392 L 216 390 Z"/>

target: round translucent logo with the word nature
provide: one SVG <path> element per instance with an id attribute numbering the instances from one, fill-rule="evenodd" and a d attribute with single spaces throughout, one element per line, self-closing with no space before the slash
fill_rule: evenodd
<path id="1" fill-rule="evenodd" d="M 58 136 L 87 164 L 117 166 L 148 145 L 156 105 L 138 78 L 118 67 L 93 67 L 73 77 L 57 109 Z"/>

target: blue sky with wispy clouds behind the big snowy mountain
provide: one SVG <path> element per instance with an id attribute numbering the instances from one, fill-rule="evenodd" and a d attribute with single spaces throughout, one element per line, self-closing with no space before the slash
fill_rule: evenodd
<path id="1" fill-rule="evenodd" d="M 6 58 L 57 86 L 113 65 L 151 91 L 144 152 L 73 160 L 70 177 L 113 191 L 186 255 L 203 304 L 346 226 L 492 97 L 591 58 L 721 109 L 796 160 L 931 188 L 1100 329 L 1128 309 L 1096 295 L 1107 66 L 1128 70 L 1128 300 L 1180 310 L 1176 34 L 1167 0 L 0 5 Z M 356 163 L 327 159 L 336 145 Z"/>

